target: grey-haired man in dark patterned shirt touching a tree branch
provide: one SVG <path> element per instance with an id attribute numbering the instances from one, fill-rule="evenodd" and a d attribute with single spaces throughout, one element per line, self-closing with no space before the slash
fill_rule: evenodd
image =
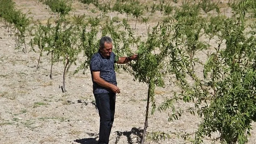
<path id="1" fill-rule="evenodd" d="M 120 93 L 114 63 L 126 64 L 137 58 L 137 54 L 116 58 L 112 48 L 112 39 L 103 36 L 99 42 L 99 51 L 92 56 L 90 61 L 93 94 L 100 117 L 99 144 L 108 144 L 114 122 L 116 93 Z"/>

